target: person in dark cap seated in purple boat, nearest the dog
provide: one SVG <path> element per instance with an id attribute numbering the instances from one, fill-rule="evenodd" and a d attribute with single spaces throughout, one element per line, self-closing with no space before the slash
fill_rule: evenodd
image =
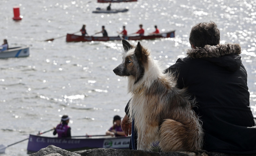
<path id="1" fill-rule="evenodd" d="M 125 136 L 121 129 L 121 117 L 116 115 L 113 119 L 113 126 L 106 132 L 106 135 Z"/>

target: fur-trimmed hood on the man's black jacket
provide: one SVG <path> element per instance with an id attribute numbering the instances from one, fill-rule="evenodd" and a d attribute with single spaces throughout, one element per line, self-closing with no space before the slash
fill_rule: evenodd
<path id="1" fill-rule="evenodd" d="M 189 49 L 187 55 L 190 58 L 200 58 L 212 62 L 227 70 L 235 71 L 240 68 L 241 47 L 239 44 L 206 45 L 204 48 Z"/>

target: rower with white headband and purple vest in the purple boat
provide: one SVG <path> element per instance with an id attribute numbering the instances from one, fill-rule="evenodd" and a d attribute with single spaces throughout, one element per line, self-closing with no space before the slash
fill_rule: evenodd
<path id="1" fill-rule="evenodd" d="M 53 135 L 58 133 L 58 137 L 71 137 L 71 128 L 68 126 L 69 117 L 67 115 L 62 116 L 61 123 L 54 127 Z"/>

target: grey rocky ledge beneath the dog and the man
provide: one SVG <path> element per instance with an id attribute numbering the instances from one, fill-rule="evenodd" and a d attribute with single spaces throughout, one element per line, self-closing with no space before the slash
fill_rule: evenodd
<path id="1" fill-rule="evenodd" d="M 193 153 L 190 153 L 193 154 Z M 46 148 L 41 149 L 37 153 L 33 153 L 29 156 L 187 156 L 188 154 L 183 152 L 148 152 L 141 150 L 119 150 L 119 149 L 92 149 L 83 152 L 69 152 L 63 150 L 59 147 L 50 145 Z M 194 153 L 195 155 L 195 153 Z M 196 155 L 205 155 L 205 156 L 240 156 L 235 154 L 225 154 L 217 152 L 206 152 L 201 151 L 196 153 Z M 246 156 L 255 156 L 255 154 L 250 154 Z M 245 156 L 245 155 L 241 155 Z"/>

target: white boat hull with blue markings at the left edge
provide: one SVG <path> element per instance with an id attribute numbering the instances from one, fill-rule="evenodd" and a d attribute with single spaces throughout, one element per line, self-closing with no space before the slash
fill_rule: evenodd
<path id="1" fill-rule="evenodd" d="M 29 56 L 29 46 L 21 46 L 9 48 L 5 51 L 0 51 L 0 58 L 9 58 L 9 57 L 27 57 Z"/>

